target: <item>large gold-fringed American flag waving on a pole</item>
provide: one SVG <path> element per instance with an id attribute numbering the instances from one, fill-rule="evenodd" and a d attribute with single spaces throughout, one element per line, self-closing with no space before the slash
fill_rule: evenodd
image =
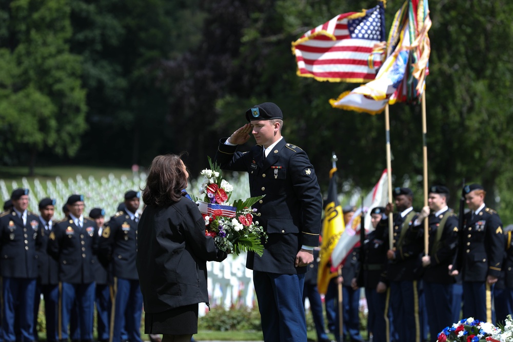
<path id="1" fill-rule="evenodd" d="M 382 2 L 369 10 L 340 14 L 292 43 L 298 76 L 317 81 L 369 82 L 382 64 L 384 40 Z"/>

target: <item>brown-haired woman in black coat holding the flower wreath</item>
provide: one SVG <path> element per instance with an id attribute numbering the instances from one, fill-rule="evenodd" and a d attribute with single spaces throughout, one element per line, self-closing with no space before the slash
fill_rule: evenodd
<path id="1" fill-rule="evenodd" d="M 206 261 L 226 258 L 205 236 L 203 216 L 182 191 L 188 177 L 180 156 L 155 157 L 137 226 L 145 333 L 163 334 L 163 342 L 188 342 L 198 333 L 198 303 L 208 305 Z"/>

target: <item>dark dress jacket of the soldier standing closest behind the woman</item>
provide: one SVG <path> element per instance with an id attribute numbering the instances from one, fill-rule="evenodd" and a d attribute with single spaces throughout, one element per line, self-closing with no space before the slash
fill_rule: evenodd
<path id="1" fill-rule="evenodd" d="M 98 248 L 100 254 L 110 261 L 114 277 L 139 279 L 135 267 L 137 223 L 125 210 L 117 212 L 103 229 Z"/>

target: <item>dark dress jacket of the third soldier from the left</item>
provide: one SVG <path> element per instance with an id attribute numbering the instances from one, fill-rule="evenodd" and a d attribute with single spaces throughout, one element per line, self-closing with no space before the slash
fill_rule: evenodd
<path id="1" fill-rule="evenodd" d="M 59 264 L 59 281 L 90 284 L 94 281 L 93 254 L 98 249 L 98 228 L 94 220 L 84 216 L 82 228 L 71 217 L 53 226 L 48 240 L 48 254 Z"/>

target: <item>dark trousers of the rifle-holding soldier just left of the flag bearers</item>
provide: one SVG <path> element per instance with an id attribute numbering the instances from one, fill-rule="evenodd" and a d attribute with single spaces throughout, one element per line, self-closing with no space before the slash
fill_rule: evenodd
<path id="1" fill-rule="evenodd" d="M 369 332 L 372 333 L 372 341 L 387 342 L 385 316 L 388 318 L 388 312 L 385 312 L 386 292 L 378 293 L 376 288 L 365 289 L 365 297 L 367 298 L 367 308 L 369 310 L 367 326 Z"/>

